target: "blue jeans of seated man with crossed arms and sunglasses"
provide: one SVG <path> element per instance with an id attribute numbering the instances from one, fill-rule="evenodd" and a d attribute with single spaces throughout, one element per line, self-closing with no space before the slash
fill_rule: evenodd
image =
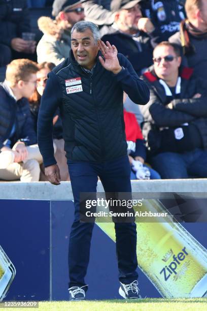
<path id="1" fill-rule="evenodd" d="M 207 150 L 203 149 L 159 153 L 152 157 L 150 163 L 164 179 L 207 177 Z"/>

